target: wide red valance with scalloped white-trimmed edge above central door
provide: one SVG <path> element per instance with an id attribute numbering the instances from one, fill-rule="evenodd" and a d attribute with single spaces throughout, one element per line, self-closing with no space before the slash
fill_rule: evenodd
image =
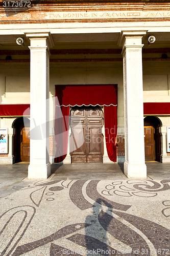
<path id="1" fill-rule="evenodd" d="M 60 106 L 117 105 L 117 84 L 56 85 L 56 96 Z"/>

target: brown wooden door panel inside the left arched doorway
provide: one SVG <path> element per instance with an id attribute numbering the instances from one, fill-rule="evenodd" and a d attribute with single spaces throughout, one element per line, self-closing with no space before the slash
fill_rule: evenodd
<path id="1" fill-rule="evenodd" d="M 30 128 L 23 127 L 20 133 L 20 158 L 22 162 L 30 161 Z"/>

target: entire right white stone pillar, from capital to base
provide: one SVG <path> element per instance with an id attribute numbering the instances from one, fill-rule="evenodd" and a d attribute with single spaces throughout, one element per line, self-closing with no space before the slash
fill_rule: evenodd
<path id="1" fill-rule="evenodd" d="M 120 35 L 124 58 L 125 163 L 131 178 L 146 178 L 143 126 L 142 37 L 146 31 L 125 31 Z"/>

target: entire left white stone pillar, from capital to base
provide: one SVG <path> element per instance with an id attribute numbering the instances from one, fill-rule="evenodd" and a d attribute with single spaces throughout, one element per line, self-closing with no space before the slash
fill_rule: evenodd
<path id="1" fill-rule="evenodd" d="M 28 33 L 30 39 L 30 165 L 28 178 L 47 178 L 49 161 L 49 48 L 50 33 Z"/>

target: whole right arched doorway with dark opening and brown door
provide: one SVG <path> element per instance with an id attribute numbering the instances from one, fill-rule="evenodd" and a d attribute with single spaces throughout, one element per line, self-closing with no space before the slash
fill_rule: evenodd
<path id="1" fill-rule="evenodd" d="M 144 118 L 144 149 L 146 161 L 160 162 L 161 155 L 161 136 L 159 127 L 161 122 L 154 116 Z"/>

